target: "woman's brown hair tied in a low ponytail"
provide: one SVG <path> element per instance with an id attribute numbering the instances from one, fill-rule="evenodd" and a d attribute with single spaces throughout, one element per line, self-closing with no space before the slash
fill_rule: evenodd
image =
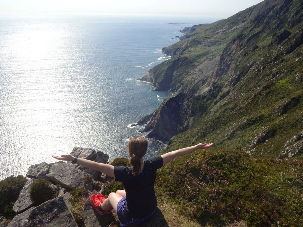
<path id="1" fill-rule="evenodd" d="M 141 168 L 141 158 L 146 154 L 147 140 L 142 136 L 132 137 L 127 146 L 128 154 L 131 156 L 129 162 L 134 167 L 132 175 L 136 176 Z"/>

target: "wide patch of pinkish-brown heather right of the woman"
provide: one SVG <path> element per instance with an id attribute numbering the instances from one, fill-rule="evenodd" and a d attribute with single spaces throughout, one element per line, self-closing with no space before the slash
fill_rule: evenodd
<path id="1" fill-rule="evenodd" d="M 158 199 L 201 223 L 290 226 L 303 219 L 302 160 L 251 159 L 241 150 L 195 152 L 157 172 Z M 295 225 L 294 225 L 295 226 Z"/>

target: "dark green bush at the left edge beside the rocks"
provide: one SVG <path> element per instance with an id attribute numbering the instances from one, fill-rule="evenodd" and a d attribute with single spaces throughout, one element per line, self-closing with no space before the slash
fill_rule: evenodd
<path id="1" fill-rule="evenodd" d="M 12 209 L 26 181 L 26 177 L 21 175 L 9 176 L 0 181 L 0 216 L 7 219 L 15 216 Z"/>

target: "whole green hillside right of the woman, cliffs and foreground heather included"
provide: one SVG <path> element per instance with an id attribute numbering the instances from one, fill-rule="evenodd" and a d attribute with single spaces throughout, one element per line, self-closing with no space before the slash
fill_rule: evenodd
<path id="1" fill-rule="evenodd" d="M 163 48 L 142 80 L 174 93 L 146 137 L 168 142 L 160 154 L 215 145 L 158 170 L 161 213 L 143 226 L 303 226 L 302 12 L 265 0 Z"/>

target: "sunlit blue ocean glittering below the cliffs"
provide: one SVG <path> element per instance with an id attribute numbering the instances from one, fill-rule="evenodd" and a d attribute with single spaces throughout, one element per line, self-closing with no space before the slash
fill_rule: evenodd
<path id="1" fill-rule="evenodd" d="M 213 20 L 214 21 L 214 20 Z M 171 25 L 188 22 L 191 25 Z M 0 14 L 0 179 L 74 146 L 127 157 L 127 143 L 169 95 L 136 80 L 199 18 Z M 172 39 L 174 38 L 174 39 Z M 148 139 L 146 157 L 165 144 Z"/>

